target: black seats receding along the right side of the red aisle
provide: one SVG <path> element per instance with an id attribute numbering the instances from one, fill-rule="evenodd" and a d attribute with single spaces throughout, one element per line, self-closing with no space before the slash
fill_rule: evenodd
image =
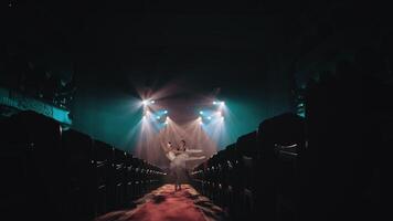
<path id="1" fill-rule="evenodd" d="M 304 131 L 304 120 L 297 115 L 267 119 L 258 130 L 238 137 L 195 167 L 191 172 L 194 186 L 234 220 L 251 219 L 255 211 L 273 219 L 278 208 L 296 210 L 291 194 Z"/>

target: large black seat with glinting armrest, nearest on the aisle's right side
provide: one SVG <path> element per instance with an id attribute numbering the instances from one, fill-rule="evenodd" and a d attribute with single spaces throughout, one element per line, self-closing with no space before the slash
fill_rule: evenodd
<path id="1" fill-rule="evenodd" d="M 264 120 L 258 128 L 261 160 L 258 170 L 258 206 L 266 209 L 268 219 L 298 219 L 299 167 L 305 149 L 305 123 L 301 117 L 286 113 Z M 272 212 L 275 211 L 275 212 Z"/>

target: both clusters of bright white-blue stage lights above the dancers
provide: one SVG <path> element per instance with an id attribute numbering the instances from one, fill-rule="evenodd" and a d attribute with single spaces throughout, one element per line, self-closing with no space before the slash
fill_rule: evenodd
<path id="1" fill-rule="evenodd" d="M 145 101 L 142 101 L 142 105 L 144 105 L 145 109 L 146 109 L 147 106 L 149 106 L 150 104 L 156 104 L 156 101 L 155 101 L 155 99 L 145 99 Z M 200 110 L 200 112 L 199 112 L 200 116 L 199 116 L 198 119 L 199 119 L 199 122 L 200 122 L 201 125 L 203 125 L 203 119 L 212 120 L 213 118 L 219 118 L 219 119 L 221 119 L 221 120 L 224 120 L 224 116 L 223 116 L 222 109 L 223 109 L 223 107 L 224 107 L 224 105 L 225 105 L 225 102 L 214 101 L 214 102 L 213 102 L 213 105 L 219 106 L 219 108 L 217 108 L 219 110 L 216 110 L 216 112 L 212 112 L 212 110 L 206 110 L 206 112 Z M 144 119 L 146 119 L 147 117 L 149 117 L 150 114 L 151 114 L 150 110 L 147 109 L 147 110 L 144 113 Z M 168 120 L 169 116 L 168 116 L 168 110 L 167 110 L 167 109 L 161 110 L 161 114 L 157 115 L 157 116 L 156 116 L 156 119 L 157 119 L 157 120 L 161 120 L 163 117 L 164 117 L 164 119 L 166 119 L 163 124 L 168 125 L 168 123 L 169 123 L 169 120 Z"/>

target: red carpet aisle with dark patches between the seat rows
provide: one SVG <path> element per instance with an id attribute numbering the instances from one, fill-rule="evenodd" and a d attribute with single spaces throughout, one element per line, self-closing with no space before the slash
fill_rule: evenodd
<path id="1" fill-rule="evenodd" d="M 221 208 L 199 194 L 191 186 L 182 185 L 174 191 L 164 185 L 139 199 L 132 210 L 104 214 L 96 221 L 222 221 L 226 220 Z"/>

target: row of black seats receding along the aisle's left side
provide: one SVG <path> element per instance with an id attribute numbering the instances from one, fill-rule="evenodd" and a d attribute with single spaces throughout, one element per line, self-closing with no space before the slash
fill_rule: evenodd
<path id="1" fill-rule="evenodd" d="M 0 127 L 1 204 L 18 219 L 92 220 L 130 207 L 166 175 L 34 112 L 2 119 Z"/>

